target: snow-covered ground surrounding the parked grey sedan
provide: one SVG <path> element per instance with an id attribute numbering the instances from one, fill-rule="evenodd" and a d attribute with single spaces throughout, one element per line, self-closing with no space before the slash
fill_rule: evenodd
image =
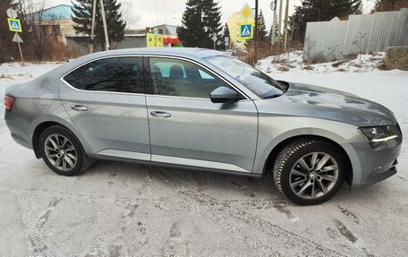
<path id="1" fill-rule="evenodd" d="M 272 177 L 252 179 L 98 162 L 81 176 L 52 173 L 13 142 L 0 118 L 0 256 L 406 256 L 408 253 L 408 72 L 315 64 L 296 53 L 277 80 L 352 92 L 394 111 L 405 140 L 398 173 L 331 201 L 299 207 Z M 371 56 L 372 57 L 372 56 Z M 0 96 L 59 64 L 0 65 Z M 356 72 L 359 71 L 359 72 Z M 0 108 L 4 112 L 4 108 Z"/>

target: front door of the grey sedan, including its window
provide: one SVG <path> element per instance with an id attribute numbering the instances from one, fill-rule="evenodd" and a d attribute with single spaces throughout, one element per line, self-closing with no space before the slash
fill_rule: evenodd
<path id="1" fill-rule="evenodd" d="M 192 61 L 150 56 L 145 69 L 152 162 L 251 173 L 258 133 L 251 99 L 212 103 L 212 90 L 233 87 Z"/>

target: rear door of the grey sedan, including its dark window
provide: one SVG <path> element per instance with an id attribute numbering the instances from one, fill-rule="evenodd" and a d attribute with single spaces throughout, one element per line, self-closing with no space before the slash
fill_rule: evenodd
<path id="1" fill-rule="evenodd" d="M 94 153 L 150 160 L 142 66 L 140 56 L 112 56 L 62 79 L 60 98 Z"/>

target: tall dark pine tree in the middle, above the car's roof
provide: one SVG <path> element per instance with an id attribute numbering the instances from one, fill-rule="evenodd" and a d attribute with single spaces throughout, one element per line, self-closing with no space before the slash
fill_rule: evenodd
<path id="1" fill-rule="evenodd" d="M 217 46 L 224 44 L 220 9 L 214 0 L 187 0 L 183 26 L 177 27 L 184 47 L 213 48 L 213 35 L 217 36 Z"/>

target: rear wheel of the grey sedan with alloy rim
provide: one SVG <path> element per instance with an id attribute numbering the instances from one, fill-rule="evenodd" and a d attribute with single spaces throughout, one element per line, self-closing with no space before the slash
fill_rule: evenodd
<path id="1" fill-rule="evenodd" d="M 75 176 L 89 167 L 81 142 L 62 125 L 50 126 L 41 133 L 38 150 L 47 166 L 59 175 Z"/>

